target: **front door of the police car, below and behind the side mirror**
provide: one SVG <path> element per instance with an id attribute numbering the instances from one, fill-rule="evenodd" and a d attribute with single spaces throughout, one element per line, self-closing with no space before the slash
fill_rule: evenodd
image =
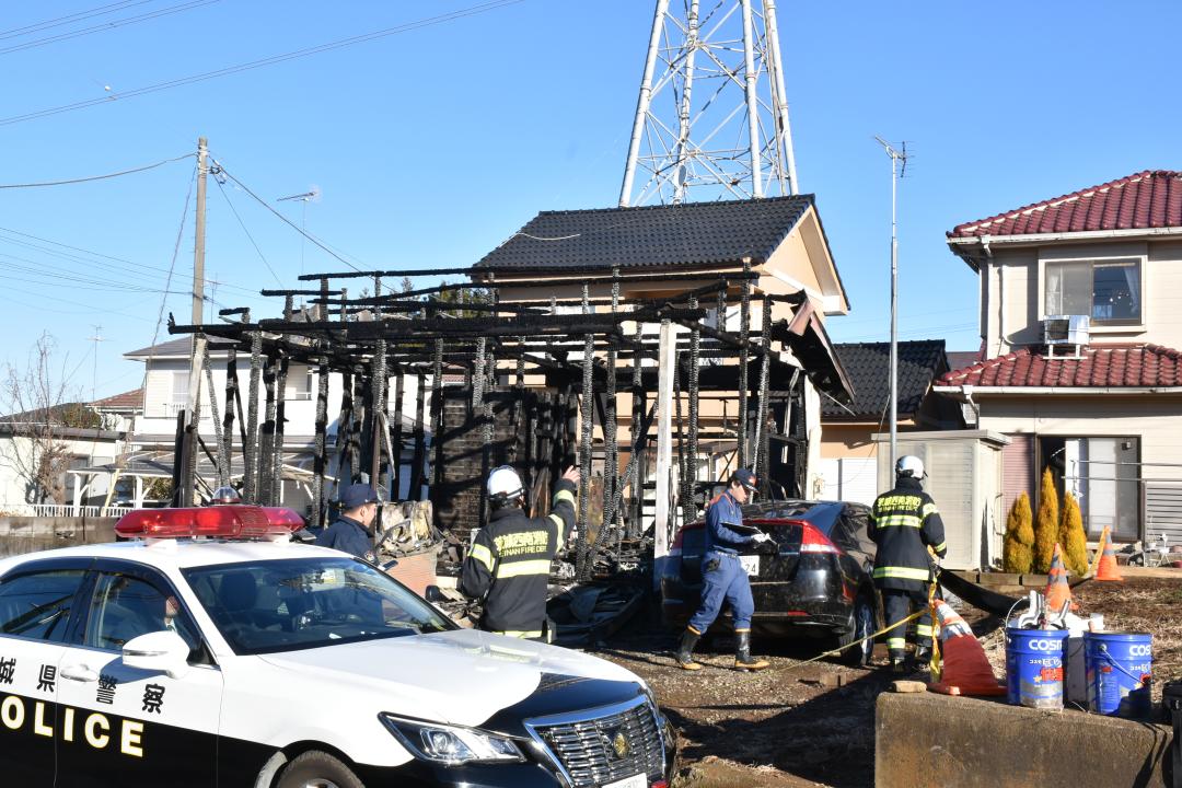
<path id="1" fill-rule="evenodd" d="M 58 670 L 63 709 L 58 784 L 70 788 L 214 788 L 222 676 L 162 574 L 96 565 L 85 621 Z M 123 664 L 123 645 L 175 630 L 189 665 L 170 677 Z"/>

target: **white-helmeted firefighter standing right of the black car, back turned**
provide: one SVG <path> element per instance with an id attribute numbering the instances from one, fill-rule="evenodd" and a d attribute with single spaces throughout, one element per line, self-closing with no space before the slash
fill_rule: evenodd
<path id="1" fill-rule="evenodd" d="M 870 539 L 878 546 L 875 556 L 875 585 L 882 593 L 886 626 L 914 610 L 928 608 L 928 592 L 934 580 L 929 548 L 943 558 L 944 523 L 931 496 L 923 491 L 923 461 L 900 457 L 895 463 L 895 489 L 875 500 L 870 512 Z M 902 627 L 886 633 L 891 670 L 907 672 L 907 632 Z M 916 620 L 915 664 L 923 665 L 931 655 L 931 613 Z"/>

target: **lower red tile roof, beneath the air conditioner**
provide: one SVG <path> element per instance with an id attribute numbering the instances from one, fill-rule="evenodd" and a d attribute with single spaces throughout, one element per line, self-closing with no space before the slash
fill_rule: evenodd
<path id="1" fill-rule="evenodd" d="M 1046 358 L 1022 349 L 953 370 L 939 386 L 1074 389 L 1182 385 L 1182 352 L 1161 345 L 1089 345 L 1083 358 Z"/>

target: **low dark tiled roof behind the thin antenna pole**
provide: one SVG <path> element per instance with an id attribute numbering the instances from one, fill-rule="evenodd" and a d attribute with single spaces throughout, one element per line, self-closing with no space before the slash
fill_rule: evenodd
<path id="1" fill-rule="evenodd" d="M 879 422 L 890 403 L 890 343 L 840 343 L 834 345 L 853 385 L 850 410 L 831 399 L 821 402 L 826 421 Z M 928 388 L 948 371 L 943 339 L 921 339 L 898 344 L 898 413 L 920 410 Z"/>

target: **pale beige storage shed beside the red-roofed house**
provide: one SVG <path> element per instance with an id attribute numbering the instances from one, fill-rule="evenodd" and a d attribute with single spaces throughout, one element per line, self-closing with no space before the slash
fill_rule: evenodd
<path id="1" fill-rule="evenodd" d="M 890 435 L 876 432 L 878 489 L 894 486 Z M 923 461 L 928 477 L 923 489 L 935 499 L 944 521 L 950 569 L 981 569 L 1001 561 L 1006 530 L 1002 503 L 1001 449 L 1009 438 L 988 430 L 900 432 L 898 455 Z"/>

